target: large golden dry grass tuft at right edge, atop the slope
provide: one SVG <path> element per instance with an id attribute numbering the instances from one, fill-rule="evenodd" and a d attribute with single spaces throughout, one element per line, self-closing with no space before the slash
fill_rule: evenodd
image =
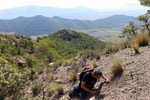
<path id="1" fill-rule="evenodd" d="M 132 41 L 138 44 L 139 46 L 146 46 L 148 45 L 150 40 L 147 33 L 141 33 L 135 36 Z"/>

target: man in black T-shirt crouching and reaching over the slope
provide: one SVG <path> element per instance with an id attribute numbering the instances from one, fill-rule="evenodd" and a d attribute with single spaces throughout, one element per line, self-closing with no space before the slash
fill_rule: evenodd
<path id="1" fill-rule="evenodd" d="M 91 94 L 97 95 L 98 92 L 94 91 L 93 88 L 97 80 L 100 78 L 103 78 L 107 83 L 110 82 L 110 80 L 106 79 L 106 77 L 102 74 L 102 72 L 99 69 L 87 71 L 84 74 L 83 78 L 80 80 L 79 85 L 74 87 L 69 92 L 70 98 L 78 97 L 84 99 L 85 97 Z"/>

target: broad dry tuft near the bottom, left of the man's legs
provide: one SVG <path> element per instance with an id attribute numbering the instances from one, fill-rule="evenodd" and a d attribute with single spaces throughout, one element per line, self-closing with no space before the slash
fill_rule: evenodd
<path id="1" fill-rule="evenodd" d="M 50 87 L 48 89 L 49 96 L 51 96 L 52 93 L 56 93 L 58 96 L 60 96 L 64 93 L 64 87 L 60 83 L 52 82 L 50 83 Z"/>

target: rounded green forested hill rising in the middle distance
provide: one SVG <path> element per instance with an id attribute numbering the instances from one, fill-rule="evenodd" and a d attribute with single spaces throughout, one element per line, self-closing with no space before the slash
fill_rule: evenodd
<path id="1" fill-rule="evenodd" d="M 104 42 L 92 36 L 66 29 L 55 32 L 41 40 L 53 40 L 56 44 L 56 51 L 65 59 L 72 58 L 83 50 L 96 50 L 105 47 Z"/>

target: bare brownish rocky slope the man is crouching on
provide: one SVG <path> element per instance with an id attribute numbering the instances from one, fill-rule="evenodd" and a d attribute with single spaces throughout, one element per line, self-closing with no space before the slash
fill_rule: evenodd
<path id="1" fill-rule="evenodd" d="M 95 87 L 99 87 L 100 94 L 87 100 L 150 100 L 150 47 L 141 47 L 139 51 L 140 54 L 135 55 L 134 51 L 128 48 L 114 54 L 115 58 L 123 62 L 123 74 L 109 84 L 99 80 Z M 87 63 L 91 64 L 92 61 L 88 60 Z M 110 56 L 102 56 L 96 64 L 107 77 L 111 77 Z M 68 84 L 66 76 L 69 69 L 71 66 L 59 67 L 56 71 L 55 78 L 64 85 L 65 93 L 55 100 L 69 100 L 69 90 L 78 83 Z"/>

